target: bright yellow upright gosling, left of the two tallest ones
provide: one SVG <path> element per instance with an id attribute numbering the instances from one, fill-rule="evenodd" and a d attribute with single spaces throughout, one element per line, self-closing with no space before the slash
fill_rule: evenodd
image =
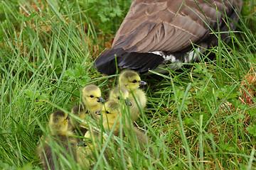
<path id="1" fill-rule="evenodd" d="M 94 84 L 83 87 L 82 102 L 87 110 L 91 111 L 92 115 L 95 115 L 97 111 L 100 111 L 102 103 L 104 102 L 100 88 Z"/>

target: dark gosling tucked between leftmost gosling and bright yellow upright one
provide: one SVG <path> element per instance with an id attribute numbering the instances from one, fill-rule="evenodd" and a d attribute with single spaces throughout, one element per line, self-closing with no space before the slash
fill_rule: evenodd
<path id="1" fill-rule="evenodd" d="M 87 109 L 85 109 L 82 104 L 73 106 L 73 108 L 71 108 L 71 113 L 73 113 L 73 115 L 76 115 L 83 120 L 85 120 L 85 116 L 88 115 Z M 81 123 L 75 118 L 70 118 L 70 121 L 68 122 L 68 130 L 70 130 L 71 132 L 78 133 L 81 136 L 84 136 L 85 132 L 87 132 L 86 127 L 86 123 Z"/>

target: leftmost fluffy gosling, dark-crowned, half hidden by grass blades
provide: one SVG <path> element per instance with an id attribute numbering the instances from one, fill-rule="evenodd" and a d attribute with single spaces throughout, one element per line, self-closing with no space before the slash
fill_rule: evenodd
<path id="1" fill-rule="evenodd" d="M 65 151 L 65 153 L 61 152 L 63 157 L 66 157 L 66 155 L 73 155 L 76 159 L 76 147 L 78 142 L 75 137 L 70 137 L 73 133 L 68 130 L 68 119 L 68 114 L 63 111 L 56 111 L 50 115 L 48 123 L 50 136 L 41 141 L 41 144 L 37 149 L 38 157 L 43 164 L 43 169 L 55 169 L 55 167 L 61 169 L 60 163 L 58 165 L 54 164 L 54 158 L 59 162 L 58 155 L 52 150 L 55 143 Z M 53 156 L 53 154 L 55 155 Z"/>

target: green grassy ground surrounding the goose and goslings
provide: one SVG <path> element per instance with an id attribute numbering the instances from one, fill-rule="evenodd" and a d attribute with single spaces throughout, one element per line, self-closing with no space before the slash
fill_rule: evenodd
<path id="1" fill-rule="evenodd" d="M 0 169 L 41 169 L 36 147 L 49 114 L 70 111 L 85 84 L 97 84 L 107 98 L 115 76 L 92 64 L 130 3 L 0 1 Z M 152 137 L 154 156 L 116 137 L 132 163 L 115 157 L 115 169 L 256 169 L 254 3 L 244 1 L 238 31 L 212 50 L 215 60 L 202 55 L 169 76 L 142 77 L 149 100 L 138 123 Z M 95 169 L 104 166 L 101 157 Z"/>

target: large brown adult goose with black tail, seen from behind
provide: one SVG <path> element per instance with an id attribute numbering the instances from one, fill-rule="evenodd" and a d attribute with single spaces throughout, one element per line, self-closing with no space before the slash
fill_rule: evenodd
<path id="1" fill-rule="evenodd" d="M 116 73 L 118 67 L 140 74 L 159 64 L 196 60 L 198 50 L 228 42 L 235 30 L 242 0 L 134 0 L 114 38 L 112 48 L 97 57 L 95 66 L 102 74 Z"/>

